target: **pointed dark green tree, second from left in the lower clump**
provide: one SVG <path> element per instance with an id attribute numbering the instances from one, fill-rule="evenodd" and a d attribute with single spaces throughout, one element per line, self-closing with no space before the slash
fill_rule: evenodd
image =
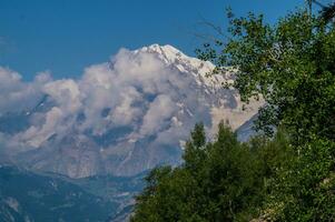
<path id="1" fill-rule="evenodd" d="M 217 139 L 207 149 L 203 179 L 207 221 L 253 219 L 264 188 L 256 155 L 225 124 L 219 124 Z"/>

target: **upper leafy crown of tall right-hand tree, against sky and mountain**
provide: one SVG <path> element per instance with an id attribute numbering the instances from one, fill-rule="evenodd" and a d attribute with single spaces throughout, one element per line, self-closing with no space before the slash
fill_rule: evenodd
<path id="1" fill-rule="evenodd" d="M 275 26 L 263 16 L 229 14 L 227 40 L 206 43 L 198 56 L 216 72 L 234 68 L 242 100 L 263 97 L 258 129 L 284 125 L 297 142 L 313 135 L 335 140 L 335 31 L 307 11 L 289 13 Z"/>

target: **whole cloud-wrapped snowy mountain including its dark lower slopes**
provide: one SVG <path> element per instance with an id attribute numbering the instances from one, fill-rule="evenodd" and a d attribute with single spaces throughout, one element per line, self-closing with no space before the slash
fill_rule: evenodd
<path id="1" fill-rule="evenodd" d="M 1 69 L 0 78 L 12 85 L 9 104 L 0 103 L 0 163 L 13 167 L 0 168 L 0 218 L 32 220 L 43 211 L 68 221 L 73 212 L 86 218 L 90 209 L 102 218 L 120 213 L 122 220 L 144 172 L 180 164 L 195 123 L 204 122 L 210 138 L 224 120 L 247 140 L 263 101 L 244 109 L 238 93 L 221 87 L 234 81 L 234 72 L 208 77 L 213 69 L 210 62 L 158 44 L 122 49 L 76 80 L 42 74 L 22 82 Z M 118 182 L 101 182 L 108 176 Z M 116 189 L 112 196 L 109 188 Z"/>

